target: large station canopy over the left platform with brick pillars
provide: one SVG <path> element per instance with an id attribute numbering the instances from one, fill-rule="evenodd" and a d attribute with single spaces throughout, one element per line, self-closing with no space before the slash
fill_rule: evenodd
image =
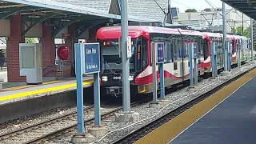
<path id="1" fill-rule="evenodd" d="M 110 0 L 110 3 L 106 3 L 107 11 L 86 7 L 86 5 L 74 5 L 72 2 L 86 3 L 88 5 L 95 1 L 0 0 L 0 19 L 10 19 L 12 14 L 21 14 L 22 22 L 25 22 L 25 24 L 26 22 L 30 22 L 30 24 L 26 24 L 28 28 L 22 32 L 22 36 L 33 26 L 45 21 L 48 26 L 54 26 L 52 38 L 63 28 L 70 26 L 74 22 L 79 22 L 82 27 L 87 26 L 83 31 L 100 24 L 120 22 L 120 4 L 117 0 Z M 128 20 L 129 22 L 158 22 L 150 18 L 130 15 L 128 16 Z"/>

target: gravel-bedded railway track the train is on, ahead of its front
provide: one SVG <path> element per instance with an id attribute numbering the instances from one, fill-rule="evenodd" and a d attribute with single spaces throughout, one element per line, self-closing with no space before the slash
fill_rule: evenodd
<path id="1" fill-rule="evenodd" d="M 148 100 L 149 99 L 145 98 L 142 101 L 133 102 L 131 106 L 138 106 Z M 122 106 L 110 108 L 105 114 L 102 114 L 102 119 L 113 116 L 114 113 L 119 110 L 122 110 Z M 89 106 L 84 109 L 84 118 L 86 126 L 94 124 L 94 106 Z M 76 129 L 77 113 L 74 112 L 50 119 L 46 122 L 37 123 L 19 130 L 10 131 L 6 134 L 1 134 L 0 141 L 1 143 L 42 143 Z"/>

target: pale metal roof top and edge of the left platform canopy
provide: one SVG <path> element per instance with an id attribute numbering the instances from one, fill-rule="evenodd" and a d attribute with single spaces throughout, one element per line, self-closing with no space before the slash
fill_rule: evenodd
<path id="1" fill-rule="evenodd" d="M 12 2 L 22 4 L 23 6 L 31 6 L 31 10 L 46 8 L 59 10 L 62 13 L 86 14 L 98 18 L 121 19 L 120 15 L 106 12 L 106 6 L 110 6 L 110 0 L 66 0 L 65 2 L 59 0 L 5 0 L 0 2 Z M 129 15 L 128 19 L 134 22 L 155 22 L 154 19 L 140 18 L 132 15 Z"/>

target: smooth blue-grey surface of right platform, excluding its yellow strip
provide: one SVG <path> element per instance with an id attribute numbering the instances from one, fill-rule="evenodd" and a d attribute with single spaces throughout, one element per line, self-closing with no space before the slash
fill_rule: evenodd
<path id="1" fill-rule="evenodd" d="M 255 143 L 255 85 L 253 78 L 170 143 Z"/>

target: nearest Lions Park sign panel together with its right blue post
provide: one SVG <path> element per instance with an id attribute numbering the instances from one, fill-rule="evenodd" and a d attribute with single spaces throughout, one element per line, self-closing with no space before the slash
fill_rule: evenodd
<path id="1" fill-rule="evenodd" d="M 100 89 L 99 89 L 99 71 L 100 71 L 100 51 L 98 43 L 86 43 L 85 46 L 85 66 L 84 74 L 94 74 L 94 126 L 101 125 L 100 114 Z"/>

